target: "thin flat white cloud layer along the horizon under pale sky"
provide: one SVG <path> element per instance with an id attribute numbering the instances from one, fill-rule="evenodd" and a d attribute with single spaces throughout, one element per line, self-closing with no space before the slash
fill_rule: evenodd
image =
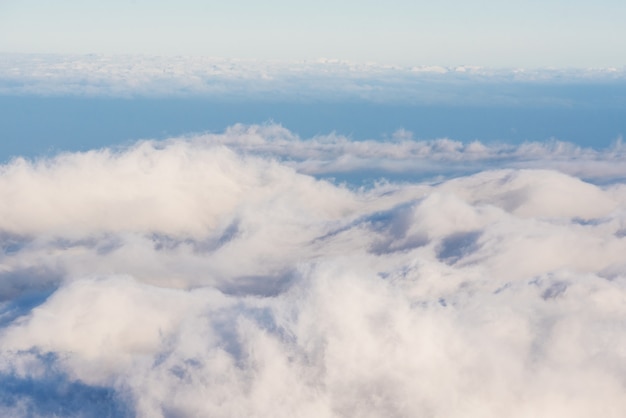
<path id="1" fill-rule="evenodd" d="M 527 85 L 626 85 L 625 68 L 490 69 L 399 67 L 338 60 L 246 61 L 208 57 L 3 54 L 0 94 L 210 97 L 219 100 L 366 100 L 429 104 L 541 104 L 580 101 Z M 506 88 L 502 88 L 506 85 Z M 624 105 L 623 95 L 604 97 Z"/>

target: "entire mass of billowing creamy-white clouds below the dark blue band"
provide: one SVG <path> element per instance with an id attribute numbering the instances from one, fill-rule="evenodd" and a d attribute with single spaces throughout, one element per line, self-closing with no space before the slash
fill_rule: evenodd
<path id="1" fill-rule="evenodd" d="M 0 412 L 622 417 L 623 159 L 274 125 L 15 159 Z"/>

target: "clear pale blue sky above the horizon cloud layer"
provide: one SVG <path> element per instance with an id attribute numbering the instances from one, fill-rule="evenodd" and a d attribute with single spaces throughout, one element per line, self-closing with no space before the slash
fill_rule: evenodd
<path id="1" fill-rule="evenodd" d="M 0 52 L 622 67 L 623 0 L 0 0 Z"/>

